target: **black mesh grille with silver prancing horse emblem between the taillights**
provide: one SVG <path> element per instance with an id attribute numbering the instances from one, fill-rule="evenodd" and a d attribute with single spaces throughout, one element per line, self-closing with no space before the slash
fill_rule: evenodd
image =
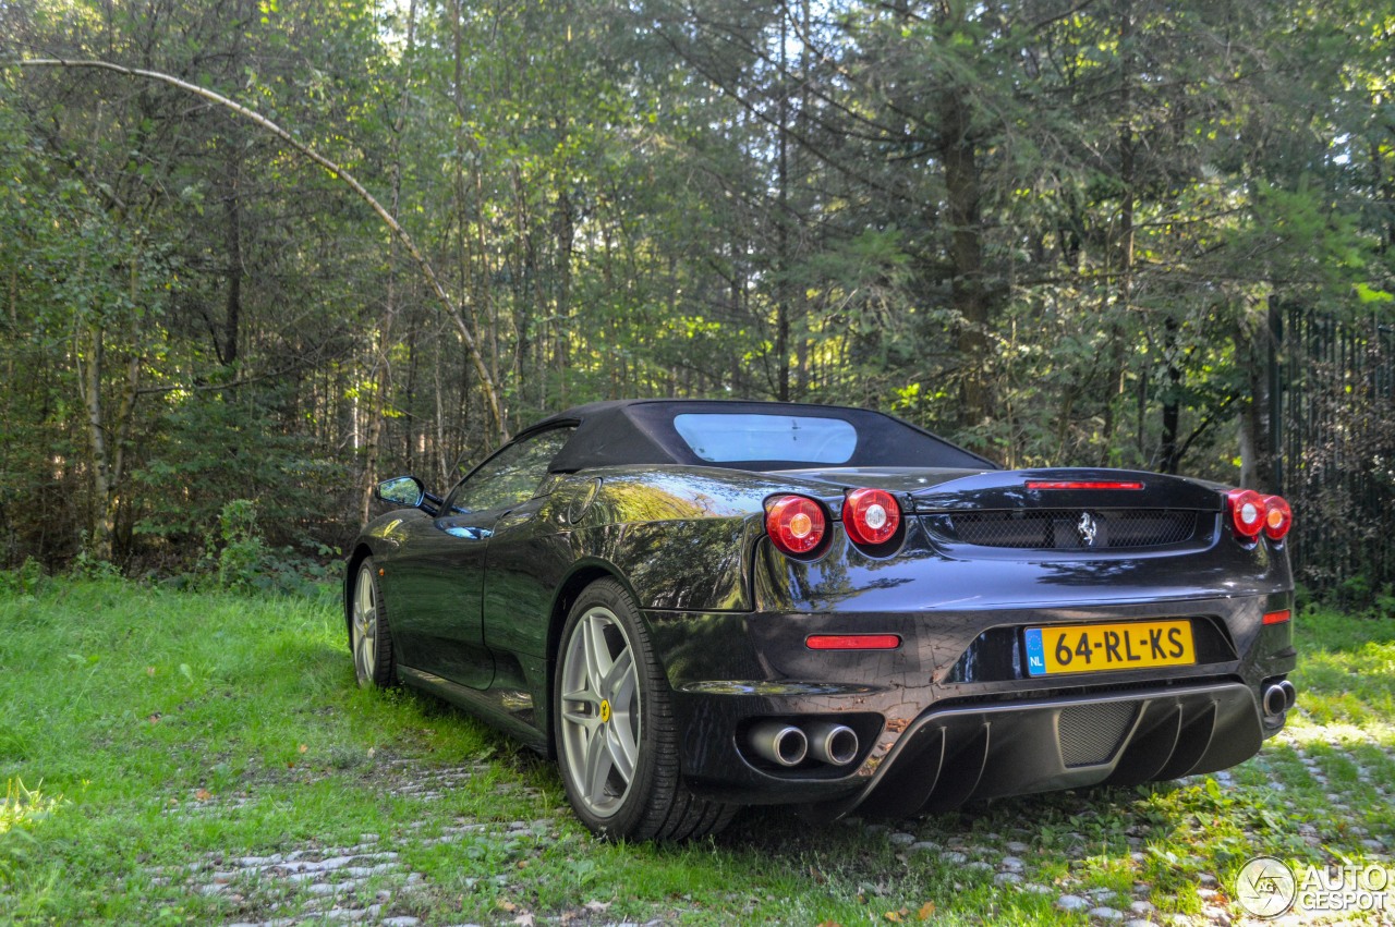
<path id="1" fill-rule="evenodd" d="M 1190 509 L 1035 509 L 961 512 L 930 516 L 939 534 L 989 548 L 1145 548 L 1190 541 L 1197 513 Z"/>

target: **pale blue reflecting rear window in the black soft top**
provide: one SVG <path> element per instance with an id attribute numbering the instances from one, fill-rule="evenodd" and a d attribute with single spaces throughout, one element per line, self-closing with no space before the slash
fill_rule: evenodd
<path id="1" fill-rule="evenodd" d="M 682 413 L 674 429 L 695 454 L 710 463 L 801 460 L 844 464 L 858 447 L 858 432 L 841 418 L 760 413 Z"/>

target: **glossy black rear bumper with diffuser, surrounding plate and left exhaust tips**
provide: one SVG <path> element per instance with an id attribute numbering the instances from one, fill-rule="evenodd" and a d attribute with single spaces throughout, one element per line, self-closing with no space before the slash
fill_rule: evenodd
<path id="1" fill-rule="evenodd" d="M 1262 691 L 1292 672 L 1288 597 L 1076 609 L 921 615 L 650 613 L 668 658 L 691 786 L 714 799 L 805 803 L 889 815 L 981 797 L 1136 785 L 1225 769 L 1254 756 L 1285 717 Z M 1025 626 L 1191 615 L 1198 662 L 1028 677 Z M 896 651 L 820 654 L 810 633 L 897 633 Z M 1214 647 L 1202 645 L 1214 633 Z M 995 641 L 1014 658 L 990 658 Z M 724 645 L 714 647 L 723 641 Z M 976 655 L 964 671 L 965 655 Z M 1014 664 L 1016 661 L 1016 664 Z M 999 665 L 1002 664 L 1002 665 Z M 757 722 L 852 728 L 855 761 L 780 768 L 752 750 Z"/>

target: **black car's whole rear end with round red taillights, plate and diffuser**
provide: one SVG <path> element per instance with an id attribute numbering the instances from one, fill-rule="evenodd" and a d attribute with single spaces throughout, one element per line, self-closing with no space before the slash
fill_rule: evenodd
<path id="1" fill-rule="evenodd" d="M 1108 470 L 801 478 L 829 489 L 766 499 L 752 612 L 656 616 L 723 643 L 670 666 L 696 785 L 908 814 L 1221 769 L 1283 726 L 1281 499 Z"/>

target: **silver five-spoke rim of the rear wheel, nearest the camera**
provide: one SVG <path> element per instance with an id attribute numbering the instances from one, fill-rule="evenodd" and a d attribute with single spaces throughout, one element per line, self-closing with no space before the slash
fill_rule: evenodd
<path id="1" fill-rule="evenodd" d="M 608 608 L 589 609 L 562 655 L 562 763 L 596 817 L 614 815 L 639 760 L 639 673 L 635 648 Z"/>

